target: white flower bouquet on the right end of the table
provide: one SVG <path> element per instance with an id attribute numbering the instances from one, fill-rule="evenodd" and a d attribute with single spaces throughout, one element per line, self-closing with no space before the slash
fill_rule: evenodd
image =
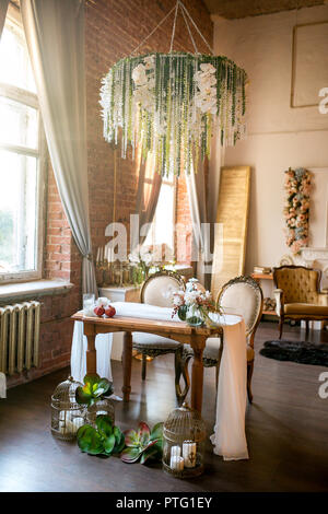
<path id="1" fill-rule="evenodd" d="M 173 314 L 177 314 L 179 319 L 187 322 L 192 327 L 215 326 L 209 313 L 220 313 L 210 291 L 200 289 L 198 280 L 190 279 L 187 282 L 186 291 L 173 293 Z"/>

